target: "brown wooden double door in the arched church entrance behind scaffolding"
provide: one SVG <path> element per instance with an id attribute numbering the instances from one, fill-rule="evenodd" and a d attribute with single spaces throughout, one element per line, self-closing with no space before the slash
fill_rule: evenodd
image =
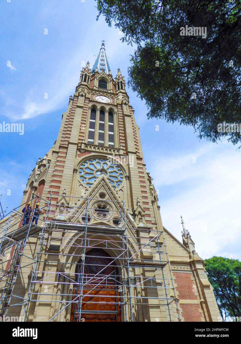
<path id="1" fill-rule="evenodd" d="M 83 278 L 83 296 L 73 297 L 72 321 L 116 322 L 121 321 L 118 269 L 106 251 L 92 249 L 85 256 L 84 276 L 81 274 L 81 260 L 76 267 L 76 282 Z M 74 295 L 81 292 L 74 289 Z"/>

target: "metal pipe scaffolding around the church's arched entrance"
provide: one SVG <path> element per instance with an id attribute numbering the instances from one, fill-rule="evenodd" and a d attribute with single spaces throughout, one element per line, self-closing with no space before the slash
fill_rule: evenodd
<path id="1" fill-rule="evenodd" d="M 62 198 L 35 195 L 44 205 L 37 226 L 33 210 L 18 228 L 21 206 L 4 217 L 0 314 L 18 306 L 24 321 L 33 321 L 36 304 L 47 304 L 46 321 L 159 321 L 151 308 L 180 321 L 163 230 L 130 226 L 124 201 Z"/>

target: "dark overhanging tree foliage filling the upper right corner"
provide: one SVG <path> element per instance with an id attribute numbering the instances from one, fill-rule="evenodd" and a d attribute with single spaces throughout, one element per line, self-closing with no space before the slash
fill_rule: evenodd
<path id="1" fill-rule="evenodd" d="M 241 142 L 239 0 L 97 0 L 97 8 L 137 46 L 128 83 L 148 118 L 191 125 L 212 142 Z"/>

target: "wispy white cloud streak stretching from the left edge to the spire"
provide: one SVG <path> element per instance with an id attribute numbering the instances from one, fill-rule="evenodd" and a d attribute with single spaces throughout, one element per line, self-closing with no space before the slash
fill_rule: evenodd
<path id="1" fill-rule="evenodd" d="M 68 96 L 73 95 L 75 92 L 75 86 L 79 82 L 80 72 L 82 69 L 81 62 L 85 60 L 90 61 L 90 66 L 95 62 L 96 57 L 100 49 L 100 41 L 95 41 L 97 43 L 90 41 L 89 37 L 96 36 L 98 28 L 103 19 L 98 22 L 94 22 L 91 28 L 88 29 L 88 37 L 83 37 L 80 42 L 78 49 L 75 45 L 69 46 L 69 50 L 62 51 L 58 55 L 58 60 L 55 60 L 53 56 L 52 60 L 47 60 L 46 69 L 41 70 L 41 75 L 31 75 L 31 69 L 35 68 L 37 60 L 33 64 L 29 64 L 30 75 L 28 75 L 30 85 L 24 84 L 25 75 L 21 78 L 21 86 L 18 84 L 18 91 L 16 89 L 14 101 L 10 96 L 11 93 L 6 89 L 0 90 L 0 95 L 2 96 L 3 106 L 1 109 L 2 114 L 13 119 L 29 119 L 41 114 L 46 114 L 51 111 L 55 111 L 61 107 L 66 106 L 66 101 Z M 126 60 L 128 61 L 128 56 L 130 53 L 130 47 L 119 41 L 118 30 L 110 28 L 110 35 L 108 36 L 108 48 L 107 55 L 109 58 L 109 63 L 112 69 L 113 77 L 115 72 L 113 69 L 112 61 L 116 61 L 116 56 L 119 54 L 121 47 L 122 56 L 126 55 Z M 99 33 L 101 35 L 101 33 Z M 118 39 L 117 39 L 118 37 Z M 103 39 L 103 37 L 102 37 Z M 72 48 L 72 50 L 70 50 Z M 44 58 L 43 56 L 40 57 Z M 32 60 L 31 60 L 32 61 Z M 25 71 L 27 72 L 27 71 Z M 22 71 L 23 73 L 23 71 Z M 36 71 L 35 71 L 36 73 Z M 11 85 L 13 91 L 14 86 Z M 47 99 L 44 95 L 47 93 Z"/>

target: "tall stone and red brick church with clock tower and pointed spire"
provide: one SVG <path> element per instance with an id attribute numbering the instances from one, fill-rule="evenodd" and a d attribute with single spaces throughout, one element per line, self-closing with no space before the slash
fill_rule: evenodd
<path id="1" fill-rule="evenodd" d="M 183 225 L 163 227 L 139 128 L 105 45 L 83 67 L 53 147 L 21 207 L 0 222 L 0 313 L 24 321 L 219 321 L 204 261 Z M 41 214 L 34 219 L 36 204 Z"/>

